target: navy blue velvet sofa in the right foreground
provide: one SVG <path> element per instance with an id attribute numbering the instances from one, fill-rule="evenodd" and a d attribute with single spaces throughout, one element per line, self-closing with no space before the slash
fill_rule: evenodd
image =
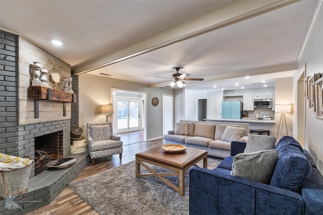
<path id="1" fill-rule="evenodd" d="M 270 184 L 231 176 L 233 157 L 245 146 L 232 142 L 231 156 L 214 170 L 190 170 L 190 215 L 323 214 L 323 177 L 294 138 L 285 136 L 276 145 L 279 155 Z"/>

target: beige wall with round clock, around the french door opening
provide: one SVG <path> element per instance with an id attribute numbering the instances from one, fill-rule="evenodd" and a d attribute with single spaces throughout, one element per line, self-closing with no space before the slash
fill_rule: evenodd
<path id="1" fill-rule="evenodd" d="M 86 123 L 106 122 L 100 114 L 102 104 L 111 104 L 111 88 L 147 92 L 147 140 L 163 136 L 162 104 L 163 94 L 173 95 L 173 89 L 150 88 L 149 85 L 90 74 L 79 75 L 79 126 L 86 135 Z M 151 99 L 157 97 L 159 104 L 153 106 Z M 153 133 L 150 131 L 153 130 Z"/>

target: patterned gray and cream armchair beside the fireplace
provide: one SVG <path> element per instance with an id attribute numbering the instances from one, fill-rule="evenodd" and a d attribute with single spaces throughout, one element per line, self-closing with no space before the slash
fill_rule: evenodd
<path id="1" fill-rule="evenodd" d="M 92 166 L 94 158 L 119 154 L 122 158 L 122 141 L 112 132 L 112 123 L 87 123 L 86 124 L 88 149 Z"/>

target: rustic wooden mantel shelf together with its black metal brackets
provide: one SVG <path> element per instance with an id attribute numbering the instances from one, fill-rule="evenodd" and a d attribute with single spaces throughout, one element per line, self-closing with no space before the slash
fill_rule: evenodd
<path id="1" fill-rule="evenodd" d="M 29 86 L 29 98 L 35 99 L 35 118 L 39 118 L 39 100 L 63 102 L 63 116 L 66 116 L 66 102 L 77 102 L 76 95 L 62 90 L 50 89 L 43 86 Z"/>

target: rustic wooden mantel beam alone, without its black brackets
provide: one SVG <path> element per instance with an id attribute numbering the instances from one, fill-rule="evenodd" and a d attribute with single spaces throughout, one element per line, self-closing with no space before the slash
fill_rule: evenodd
<path id="1" fill-rule="evenodd" d="M 75 102 L 73 99 L 73 93 L 65 92 L 62 90 L 50 89 L 43 86 L 29 86 L 28 96 L 29 98 L 39 100 L 51 100 L 61 102 Z"/>

